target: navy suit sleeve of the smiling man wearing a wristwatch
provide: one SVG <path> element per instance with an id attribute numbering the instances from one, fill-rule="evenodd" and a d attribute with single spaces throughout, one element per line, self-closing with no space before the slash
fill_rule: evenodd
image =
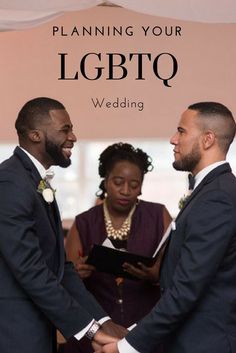
<path id="1" fill-rule="evenodd" d="M 0 254 L 8 271 L 3 280 L 10 283 L 16 296 L 32 300 L 65 337 L 70 337 L 94 319 L 93 309 L 97 316 L 102 310 L 100 307 L 96 309 L 96 303 L 78 277 L 74 290 L 80 294 L 75 299 L 47 266 L 35 224 L 35 217 L 41 216 L 35 215 L 37 195 L 31 189 L 22 178 L 16 180 L 10 173 L 1 173 Z M 66 272 L 69 274 L 72 270 Z M 11 276 L 14 280 L 9 280 Z M 18 285 L 12 284 L 14 281 Z M 90 306 L 91 309 L 87 310 Z"/>

